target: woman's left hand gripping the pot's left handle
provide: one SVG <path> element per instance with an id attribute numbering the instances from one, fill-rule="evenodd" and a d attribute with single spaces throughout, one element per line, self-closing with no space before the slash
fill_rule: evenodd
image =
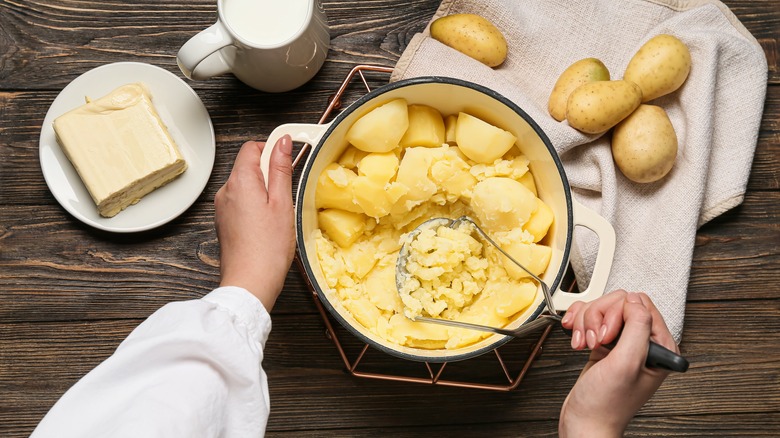
<path id="1" fill-rule="evenodd" d="M 214 197 L 220 244 L 220 286 L 239 286 L 269 312 L 282 290 L 295 252 L 292 140 L 282 137 L 271 154 L 268 189 L 260 171 L 265 143 L 241 146 L 233 170 Z"/>

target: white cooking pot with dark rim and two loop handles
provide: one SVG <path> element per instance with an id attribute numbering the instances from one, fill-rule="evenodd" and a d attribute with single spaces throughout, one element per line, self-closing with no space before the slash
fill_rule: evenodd
<path id="1" fill-rule="evenodd" d="M 555 214 L 555 220 L 546 237 L 546 243 L 552 247 L 552 258 L 547 270 L 541 276 L 553 291 L 555 309 L 566 310 L 577 300 L 591 301 L 604 293 L 615 253 L 615 231 L 606 219 L 572 198 L 563 165 L 539 126 L 521 108 L 495 91 L 459 79 L 420 77 L 394 82 L 369 92 L 347 107 L 330 123 L 279 126 L 269 136 L 263 151 L 261 170 L 267 175 L 271 150 L 283 135 L 289 134 L 293 141 L 313 146 L 302 169 L 296 194 L 295 224 L 298 255 L 304 275 L 308 277 L 322 304 L 339 323 L 379 350 L 404 359 L 426 362 L 468 359 L 492 351 L 512 339 L 508 336 L 492 335 L 475 344 L 451 350 L 429 350 L 396 345 L 380 338 L 360 324 L 327 287 L 313 239 L 313 233 L 318 228 L 317 209 L 314 207 L 317 178 L 325 166 L 336 161 L 347 147 L 344 135 L 349 127 L 371 109 L 396 98 L 406 99 L 409 104 L 429 105 L 444 115 L 463 111 L 514 134 L 523 154 L 530 160 L 529 167 L 534 176 L 539 198 L 549 205 Z M 584 226 L 599 237 L 593 276 L 588 288 L 581 293 L 559 290 L 569 265 L 569 252 L 575 226 Z M 516 328 L 536 319 L 544 308 L 543 294 L 537 293 L 536 301 L 516 315 L 507 328 Z"/>

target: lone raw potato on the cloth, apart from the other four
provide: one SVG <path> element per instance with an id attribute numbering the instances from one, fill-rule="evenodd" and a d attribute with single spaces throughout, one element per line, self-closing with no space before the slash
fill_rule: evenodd
<path id="1" fill-rule="evenodd" d="M 453 14 L 431 23 L 431 37 L 488 67 L 506 59 L 506 39 L 490 21 L 476 14 Z"/>

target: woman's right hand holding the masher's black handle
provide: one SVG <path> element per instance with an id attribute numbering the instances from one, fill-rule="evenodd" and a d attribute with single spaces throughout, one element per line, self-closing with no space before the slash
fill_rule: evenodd
<path id="1" fill-rule="evenodd" d="M 623 290 L 573 304 L 561 323 L 572 348 L 592 351 L 563 403 L 560 436 L 622 436 L 669 374 L 645 367 L 650 339 L 679 353 L 666 323 L 647 295 Z M 611 351 L 601 347 L 618 336 Z"/>

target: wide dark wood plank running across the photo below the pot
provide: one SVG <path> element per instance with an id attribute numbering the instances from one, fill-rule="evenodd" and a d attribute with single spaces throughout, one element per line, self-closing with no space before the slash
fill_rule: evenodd
<path id="1" fill-rule="evenodd" d="M 734 302 L 725 308 L 691 303 L 683 341 L 691 369 L 671 376 L 641 415 L 657 420 L 780 412 L 776 366 L 780 351 L 774 348 L 779 317 L 777 299 Z M 3 429 L 7 421 L 32 427 L 44 412 L 42 406 L 50 406 L 108 356 L 137 323 L 0 324 L 0 351 L 10 359 L 0 367 L 0 392 L 5 395 L 0 402 L 0 435 L 9 436 Z M 727 335 L 716 338 L 712 333 Z M 349 376 L 319 321 L 311 315 L 274 317 L 264 361 L 273 404 L 269 430 L 431 426 L 435 418 L 464 427 L 519 419 L 552 422 L 586 359 L 567 343 L 565 336 L 554 332 L 521 387 L 499 393 Z M 391 360 L 375 364 L 382 362 L 389 364 L 388 372 L 399 370 Z M 477 373 L 484 373 L 486 368 L 479 368 Z M 301 400 L 306 401 L 305 409 Z M 481 408 L 464 411 L 463 400 Z M 710 427 L 717 430 L 715 424 Z"/>

